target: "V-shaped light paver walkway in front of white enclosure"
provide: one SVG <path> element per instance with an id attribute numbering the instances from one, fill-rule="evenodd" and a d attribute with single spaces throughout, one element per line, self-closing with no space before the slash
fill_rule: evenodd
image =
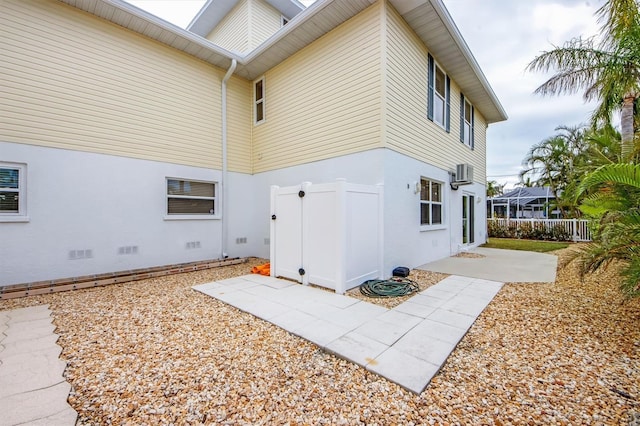
<path id="1" fill-rule="evenodd" d="M 261 275 L 193 288 L 421 393 L 502 283 L 454 275 L 393 309 Z"/>

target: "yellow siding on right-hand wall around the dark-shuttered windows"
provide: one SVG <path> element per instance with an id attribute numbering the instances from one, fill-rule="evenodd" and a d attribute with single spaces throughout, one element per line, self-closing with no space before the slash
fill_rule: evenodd
<path id="1" fill-rule="evenodd" d="M 445 170 L 458 163 L 473 164 L 474 180 L 484 182 L 484 118 L 476 111 L 476 143 L 471 150 L 460 142 L 460 88 L 452 80 L 450 133 L 431 122 L 427 118 L 427 48 L 389 4 L 386 37 L 387 146 Z"/>

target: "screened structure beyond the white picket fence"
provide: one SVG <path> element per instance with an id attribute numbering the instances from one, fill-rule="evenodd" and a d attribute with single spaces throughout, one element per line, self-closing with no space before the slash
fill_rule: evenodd
<path id="1" fill-rule="evenodd" d="M 487 200 L 487 217 L 551 219 L 551 216 L 558 214 L 551 208 L 555 199 L 548 186 L 515 188 Z"/>

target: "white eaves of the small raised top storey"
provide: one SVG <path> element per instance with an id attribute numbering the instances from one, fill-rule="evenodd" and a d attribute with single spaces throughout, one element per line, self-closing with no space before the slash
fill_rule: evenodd
<path id="1" fill-rule="evenodd" d="M 302 12 L 305 7 L 296 0 L 264 0 L 278 10 L 287 19 L 291 19 Z M 231 9 L 238 4 L 238 0 L 207 0 L 200 12 L 187 25 L 187 30 L 199 36 L 206 37 Z"/>

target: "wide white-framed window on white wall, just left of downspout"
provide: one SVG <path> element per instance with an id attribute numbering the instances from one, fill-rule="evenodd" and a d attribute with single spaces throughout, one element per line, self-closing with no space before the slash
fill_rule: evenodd
<path id="1" fill-rule="evenodd" d="M 213 216 L 215 213 L 215 183 L 167 179 L 167 215 Z"/>

